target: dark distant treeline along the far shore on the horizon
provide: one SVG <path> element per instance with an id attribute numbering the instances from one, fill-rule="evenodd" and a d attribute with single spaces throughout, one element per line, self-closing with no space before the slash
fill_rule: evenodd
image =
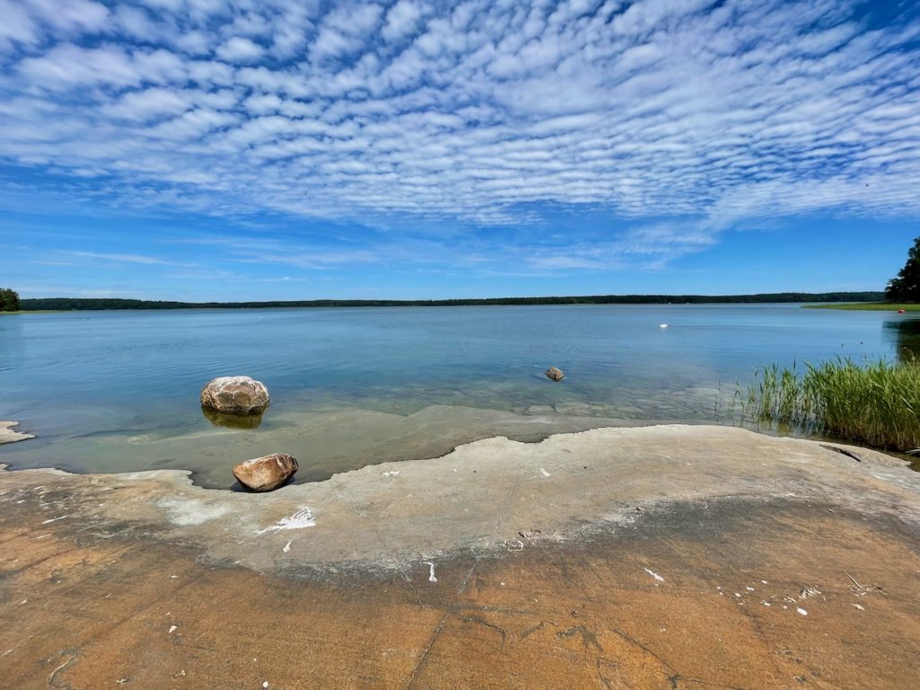
<path id="1" fill-rule="evenodd" d="M 160 300 L 49 297 L 20 299 L 19 312 L 99 311 L 109 309 L 277 309 L 360 306 L 489 306 L 489 305 L 717 305 L 879 303 L 884 293 L 757 293 L 757 294 L 606 294 L 568 297 L 491 297 L 442 300 L 294 300 L 268 302 L 169 302 Z"/>

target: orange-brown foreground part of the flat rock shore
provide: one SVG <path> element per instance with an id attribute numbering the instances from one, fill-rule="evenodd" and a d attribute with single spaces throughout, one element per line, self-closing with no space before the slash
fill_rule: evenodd
<path id="1" fill-rule="evenodd" d="M 323 577 L 8 501 L 0 529 L 10 687 L 903 690 L 920 674 L 915 533 L 825 505 L 684 504 L 577 542 Z"/>

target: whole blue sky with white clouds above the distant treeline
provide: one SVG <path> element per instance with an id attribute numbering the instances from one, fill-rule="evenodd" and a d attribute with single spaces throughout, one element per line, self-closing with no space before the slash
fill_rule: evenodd
<path id="1" fill-rule="evenodd" d="M 914 0 L 0 0 L 0 287 L 881 290 Z"/>

